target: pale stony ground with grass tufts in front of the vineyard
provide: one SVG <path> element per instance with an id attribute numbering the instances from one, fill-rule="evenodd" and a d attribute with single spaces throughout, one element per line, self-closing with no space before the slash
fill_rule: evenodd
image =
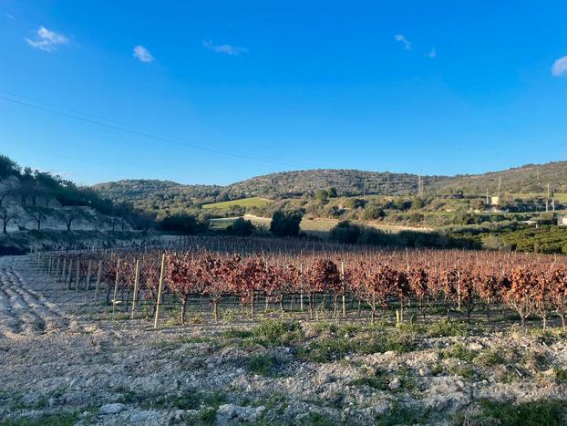
<path id="1" fill-rule="evenodd" d="M 0 422 L 567 423 L 558 329 L 194 315 L 154 330 L 57 286 L 0 257 Z"/>

